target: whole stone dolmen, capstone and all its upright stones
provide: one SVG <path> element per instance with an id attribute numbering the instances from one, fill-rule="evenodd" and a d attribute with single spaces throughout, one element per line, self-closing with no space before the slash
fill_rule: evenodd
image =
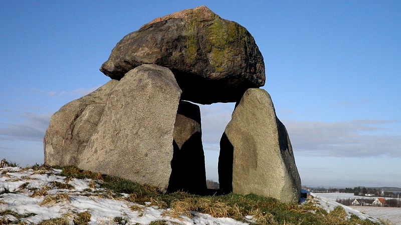
<path id="1" fill-rule="evenodd" d="M 111 80 L 62 106 L 44 138 L 45 163 L 119 176 L 162 190 L 204 193 L 198 104 L 236 102 L 222 134 L 223 193 L 299 200 L 291 142 L 248 30 L 206 6 L 124 36 L 100 70 Z"/>

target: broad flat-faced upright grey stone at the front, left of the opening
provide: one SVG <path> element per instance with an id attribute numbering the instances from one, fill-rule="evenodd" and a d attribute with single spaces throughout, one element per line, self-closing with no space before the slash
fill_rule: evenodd
<path id="1" fill-rule="evenodd" d="M 166 188 L 180 94 L 168 68 L 143 64 L 127 72 L 111 91 L 78 166 Z"/>

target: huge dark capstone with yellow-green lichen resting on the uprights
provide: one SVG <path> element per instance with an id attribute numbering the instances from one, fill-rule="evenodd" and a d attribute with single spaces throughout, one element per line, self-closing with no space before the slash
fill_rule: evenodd
<path id="1" fill-rule="evenodd" d="M 171 69 L 181 99 L 236 102 L 246 89 L 263 86 L 263 56 L 248 30 L 205 6 L 186 9 L 127 34 L 100 70 L 113 79 L 144 63 Z"/>

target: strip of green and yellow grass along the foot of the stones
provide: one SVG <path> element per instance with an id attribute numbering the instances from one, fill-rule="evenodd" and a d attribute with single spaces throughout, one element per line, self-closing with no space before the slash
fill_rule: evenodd
<path id="1" fill-rule="evenodd" d="M 36 166 L 36 169 L 39 166 Z M 251 224 L 379 224 L 358 216 L 347 216 L 345 210 L 338 206 L 331 212 L 316 206 L 309 199 L 304 204 L 282 203 L 275 198 L 261 197 L 255 194 L 246 196 L 239 194 L 200 196 L 186 192 L 164 193 L 156 187 L 138 184 L 119 177 L 108 176 L 81 170 L 73 166 L 58 167 L 60 175 L 68 178 L 92 178 L 93 185 L 108 189 L 105 197 L 121 198 L 121 193 L 129 194 L 124 199 L 139 203 L 170 208 L 166 213 L 170 216 L 193 216 L 193 211 L 208 213 L 214 217 L 231 217 Z M 57 185 L 57 184 L 55 184 Z M 247 219 L 248 218 L 248 219 Z M 160 221 L 162 222 L 162 221 Z"/>

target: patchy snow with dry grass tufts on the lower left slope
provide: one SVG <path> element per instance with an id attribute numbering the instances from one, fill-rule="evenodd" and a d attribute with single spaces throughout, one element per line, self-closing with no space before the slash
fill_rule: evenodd
<path id="1" fill-rule="evenodd" d="M 169 224 L 247 224 L 232 218 L 215 218 L 197 212 L 193 212 L 192 218 L 171 217 L 168 209 L 140 205 L 122 198 L 99 197 L 99 193 L 106 190 L 92 188 L 91 179 L 66 180 L 66 177 L 59 175 L 60 172 L 58 169 L 34 171 L 19 167 L 0 168 L 0 212 L 12 210 L 26 216 L 18 219 L 13 213 L 0 214 L 0 224 L 38 224 L 56 217 L 68 217 L 72 220 L 84 211 L 91 214 L 89 224 L 117 224 L 114 221 L 117 217 L 127 224 L 149 224 L 155 220 L 165 220 Z M 69 189 L 57 188 L 57 182 L 72 186 Z M 44 190 L 47 194 L 34 196 L 38 190 Z M 131 209 L 132 206 L 135 210 Z"/>

